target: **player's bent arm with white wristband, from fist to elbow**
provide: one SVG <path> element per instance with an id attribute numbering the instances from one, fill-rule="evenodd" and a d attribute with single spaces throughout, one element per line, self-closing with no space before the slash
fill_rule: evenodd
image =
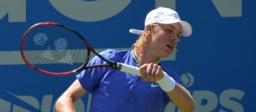
<path id="1" fill-rule="evenodd" d="M 168 94 L 171 101 L 182 111 L 193 111 L 195 104 L 190 93 L 157 64 L 144 64 L 140 67 L 143 81 L 156 81 Z"/>

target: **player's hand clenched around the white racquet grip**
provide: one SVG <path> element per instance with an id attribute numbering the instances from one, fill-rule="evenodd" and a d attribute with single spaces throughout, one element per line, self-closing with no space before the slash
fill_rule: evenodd
<path id="1" fill-rule="evenodd" d="M 140 67 L 142 81 L 157 81 L 164 77 L 163 69 L 157 64 L 144 64 Z"/>

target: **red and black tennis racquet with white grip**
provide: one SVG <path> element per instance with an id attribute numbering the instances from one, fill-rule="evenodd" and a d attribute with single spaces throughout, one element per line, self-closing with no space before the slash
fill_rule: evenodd
<path id="1" fill-rule="evenodd" d="M 104 58 L 78 32 L 55 22 L 32 25 L 22 38 L 20 52 L 27 65 L 48 75 L 64 76 L 85 69 L 106 67 L 141 76 L 138 67 Z M 87 66 L 90 52 L 107 64 Z"/>

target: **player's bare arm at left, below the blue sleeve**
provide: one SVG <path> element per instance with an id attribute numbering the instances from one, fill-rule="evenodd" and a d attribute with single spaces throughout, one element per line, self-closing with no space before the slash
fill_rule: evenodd
<path id="1" fill-rule="evenodd" d="M 60 96 L 55 104 L 57 111 L 75 111 L 74 102 L 86 94 L 78 79 Z"/>

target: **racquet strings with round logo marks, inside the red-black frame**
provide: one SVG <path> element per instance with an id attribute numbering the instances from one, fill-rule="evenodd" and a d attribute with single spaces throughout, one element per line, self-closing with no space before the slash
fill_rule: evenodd
<path id="1" fill-rule="evenodd" d="M 65 73 L 87 64 L 89 50 L 78 35 L 59 25 L 30 30 L 23 43 L 25 60 L 37 69 Z"/>

